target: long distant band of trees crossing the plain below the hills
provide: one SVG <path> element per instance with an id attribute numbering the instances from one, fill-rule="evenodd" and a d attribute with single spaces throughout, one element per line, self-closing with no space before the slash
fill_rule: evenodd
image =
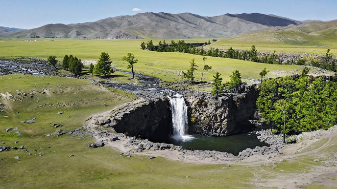
<path id="1" fill-rule="evenodd" d="M 214 40 L 212 40 L 214 41 Z M 216 40 L 215 40 L 216 41 Z M 158 52 L 184 52 L 201 56 L 211 56 L 211 57 L 220 57 L 220 58 L 230 58 L 230 59 L 238 59 L 244 61 L 252 61 L 257 63 L 272 63 L 272 64 L 282 64 L 280 60 L 280 56 L 274 51 L 269 56 L 258 56 L 258 51 L 256 50 L 255 45 L 251 46 L 249 50 L 236 50 L 232 47 L 229 47 L 226 52 L 220 51 L 217 48 L 210 48 L 205 50 L 200 47 L 202 44 L 210 44 L 211 42 L 205 43 L 186 43 L 183 40 L 179 40 L 179 42 L 171 41 L 171 44 L 167 44 L 159 41 L 158 45 L 154 45 L 152 40 L 148 42 L 142 42 L 141 47 L 143 50 L 151 50 Z M 297 61 L 288 61 L 285 64 L 296 64 L 296 65 L 310 65 L 315 67 L 320 67 L 323 69 L 327 69 L 330 71 L 337 72 L 336 61 L 333 59 L 333 55 L 330 53 L 330 49 L 327 49 L 326 54 L 323 59 L 318 59 L 313 56 L 303 57 L 298 59 Z"/>

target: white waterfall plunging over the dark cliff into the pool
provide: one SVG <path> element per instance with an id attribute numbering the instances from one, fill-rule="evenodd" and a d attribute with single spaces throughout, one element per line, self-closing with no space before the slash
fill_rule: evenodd
<path id="1" fill-rule="evenodd" d="M 169 97 L 169 96 L 168 96 Z M 182 95 L 169 97 L 172 112 L 173 138 L 188 141 L 193 137 L 188 135 L 187 106 Z"/>

